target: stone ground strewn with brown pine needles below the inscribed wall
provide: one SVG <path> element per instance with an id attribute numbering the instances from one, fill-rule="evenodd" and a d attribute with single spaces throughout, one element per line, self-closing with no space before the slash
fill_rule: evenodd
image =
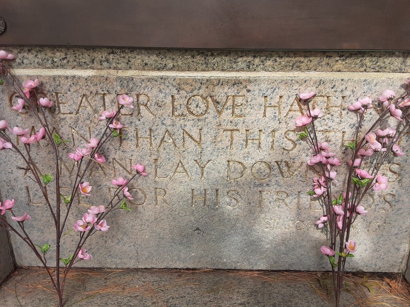
<path id="1" fill-rule="evenodd" d="M 74 269 L 65 306 L 330 307 L 329 277 L 320 272 Z M 410 306 L 409 284 L 398 275 L 348 275 L 344 285 L 341 307 Z M 40 268 L 19 269 L 0 291 L 2 307 L 56 305 L 51 282 Z"/>

